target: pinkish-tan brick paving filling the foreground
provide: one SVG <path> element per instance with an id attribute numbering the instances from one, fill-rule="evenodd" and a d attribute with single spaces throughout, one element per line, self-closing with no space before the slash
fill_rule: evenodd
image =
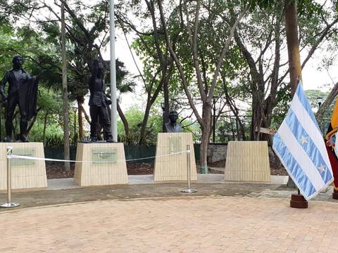
<path id="1" fill-rule="evenodd" d="M 106 200 L 0 213 L 0 252 L 338 252 L 338 205 L 249 197 Z"/>

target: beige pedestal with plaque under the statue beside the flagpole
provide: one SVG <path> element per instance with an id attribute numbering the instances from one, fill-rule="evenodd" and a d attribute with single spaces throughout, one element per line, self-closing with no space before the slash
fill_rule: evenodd
<path id="1" fill-rule="evenodd" d="M 78 143 L 74 181 L 79 186 L 128 183 L 123 143 Z"/>

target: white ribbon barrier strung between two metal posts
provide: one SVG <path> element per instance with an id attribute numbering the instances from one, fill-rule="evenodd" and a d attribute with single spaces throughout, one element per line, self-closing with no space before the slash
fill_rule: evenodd
<path id="1" fill-rule="evenodd" d="M 170 153 L 167 155 L 158 155 L 158 156 L 152 156 L 152 157 L 142 157 L 142 158 L 135 158 L 135 159 L 129 159 L 129 160 L 119 160 L 115 162 L 131 162 L 131 161 L 139 161 L 139 160 L 147 160 L 157 157 L 166 157 L 170 155 L 179 155 L 182 153 L 190 153 L 190 150 L 184 150 L 176 153 Z M 80 161 L 80 160 L 61 160 L 61 159 L 52 159 L 52 158 L 44 158 L 44 157 L 29 157 L 25 155 L 7 155 L 7 158 L 9 159 L 21 159 L 21 160 L 38 160 L 38 161 L 50 161 L 50 162 L 82 162 L 82 163 L 91 163 L 93 161 Z M 96 162 L 95 163 L 108 163 L 108 161 L 103 162 Z"/>

